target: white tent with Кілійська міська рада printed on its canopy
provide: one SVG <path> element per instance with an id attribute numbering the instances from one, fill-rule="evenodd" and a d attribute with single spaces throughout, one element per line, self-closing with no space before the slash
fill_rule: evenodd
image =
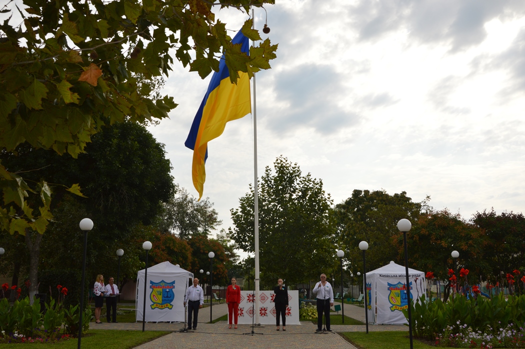
<path id="1" fill-rule="evenodd" d="M 408 280 L 412 300 L 426 295 L 425 273 L 408 268 Z M 405 289 L 405 266 L 393 261 L 386 266 L 366 273 L 366 291 L 369 323 L 373 324 L 406 324 L 403 315 L 407 309 L 407 292 Z"/>

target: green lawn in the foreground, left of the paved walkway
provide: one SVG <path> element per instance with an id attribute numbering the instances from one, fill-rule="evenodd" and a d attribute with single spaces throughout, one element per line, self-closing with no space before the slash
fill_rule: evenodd
<path id="1" fill-rule="evenodd" d="M 150 342 L 171 332 L 164 331 L 116 331 L 116 330 L 89 330 L 88 334 L 82 336 L 83 348 L 104 348 L 104 349 L 128 349 L 143 343 Z M 41 348 L 49 346 L 53 349 L 74 349 L 78 347 L 78 339 L 72 338 L 67 341 L 57 343 L 16 343 L 0 344 L 0 348 Z"/>

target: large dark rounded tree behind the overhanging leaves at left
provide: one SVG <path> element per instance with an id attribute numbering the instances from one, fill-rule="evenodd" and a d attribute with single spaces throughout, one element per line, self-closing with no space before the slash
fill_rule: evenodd
<path id="1" fill-rule="evenodd" d="M 83 236 L 78 222 L 80 218 L 92 218 L 95 222 L 93 233 L 96 234 L 90 234 L 88 239 L 89 268 L 91 265 L 96 266 L 97 261 L 107 258 L 106 246 L 114 246 L 117 242 L 128 239 L 139 223 L 150 224 L 151 218 L 159 212 L 160 203 L 167 202 L 173 195 L 174 184 L 170 175 L 171 164 L 165 158 L 163 144 L 156 142 L 151 133 L 137 123 L 123 122 L 104 126 L 93 136 L 87 150 L 87 153 L 74 159 L 21 144 L 17 147 L 18 156 L 3 152 L 1 158 L 9 171 L 25 172 L 28 181 L 38 182 L 43 177 L 56 183 L 79 181 L 85 188 L 88 197 L 82 198 L 78 204 L 64 204 L 66 214 L 62 213 L 63 218 L 56 220 L 50 228 L 56 230 L 51 231 L 48 238 L 51 241 L 56 238 L 64 239 L 61 242 L 64 247 L 78 244 L 82 238 L 69 241 L 69 237 L 77 232 Z M 51 210 L 61 204 L 61 199 L 67 193 L 61 186 L 53 188 L 56 188 L 57 200 Z M 30 199 L 33 198 L 28 200 Z M 70 219 L 68 215 L 76 218 Z M 25 241 L 30 251 L 31 295 L 38 291 L 37 270 L 42 239 L 43 235 L 34 230 L 25 231 Z M 75 248 L 69 246 L 65 249 L 75 252 L 70 257 L 74 260 L 69 265 L 78 262 L 78 256 L 83 253 L 81 248 L 80 243 Z M 56 251 L 53 247 L 51 250 Z M 109 252 L 109 256 L 113 257 L 114 251 Z M 48 258 L 56 260 L 55 266 L 62 266 L 62 262 L 68 257 L 61 257 L 58 260 L 53 256 Z"/>

